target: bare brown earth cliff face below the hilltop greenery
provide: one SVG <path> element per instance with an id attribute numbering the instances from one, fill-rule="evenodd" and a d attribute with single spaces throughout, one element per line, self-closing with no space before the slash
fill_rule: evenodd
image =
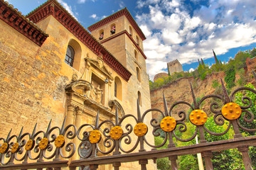
<path id="1" fill-rule="evenodd" d="M 193 91 L 196 95 L 196 98 L 202 98 L 203 96 L 206 96 L 208 94 L 221 95 L 220 79 L 223 79 L 224 81 L 224 78 L 224 72 L 216 72 L 208 74 L 203 80 L 195 79 L 194 77 L 176 79 L 176 81 L 172 81 L 171 83 L 166 84 L 159 89 L 154 89 L 150 91 L 151 108 L 158 108 L 161 111 L 164 111 L 163 92 L 169 108 L 176 101 L 186 101 L 188 103 L 193 103 L 190 84 L 192 84 L 193 86 Z M 236 81 L 238 81 L 239 78 L 240 76 L 237 74 L 235 76 Z M 247 83 L 252 83 L 253 85 L 256 85 L 255 79 L 252 78 L 251 72 L 247 73 L 245 80 L 247 80 Z M 232 89 L 235 89 L 237 87 L 238 86 L 234 86 Z M 209 105 L 206 104 L 205 106 Z M 179 105 L 178 107 L 178 109 L 174 110 L 174 118 L 177 117 L 177 112 L 175 111 L 188 111 L 189 109 L 187 106 L 183 105 Z M 203 109 L 208 110 L 208 108 Z M 153 113 L 153 117 L 157 118 L 158 115 L 156 113 Z"/>

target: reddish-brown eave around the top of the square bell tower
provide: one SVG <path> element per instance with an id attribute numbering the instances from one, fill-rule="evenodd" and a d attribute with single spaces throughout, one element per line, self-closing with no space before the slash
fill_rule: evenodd
<path id="1" fill-rule="evenodd" d="M 136 21 L 132 17 L 131 13 L 129 13 L 127 8 L 123 8 L 120 11 L 117 11 L 116 13 L 112 14 L 111 16 L 108 16 L 107 18 L 102 19 L 101 21 L 93 24 L 92 26 L 89 26 L 88 30 L 92 32 L 92 30 L 100 28 L 101 26 L 104 26 L 105 24 L 110 23 L 111 21 L 115 20 L 116 18 L 119 18 L 120 16 L 126 16 L 128 21 L 132 24 L 133 28 L 139 34 L 139 37 L 142 38 L 142 40 L 146 40 L 144 33 L 139 28 L 139 26 L 137 25 Z"/>

